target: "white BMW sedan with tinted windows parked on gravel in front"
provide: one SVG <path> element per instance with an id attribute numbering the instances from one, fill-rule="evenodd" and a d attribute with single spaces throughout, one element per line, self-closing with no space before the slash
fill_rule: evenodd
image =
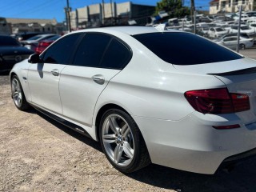
<path id="1" fill-rule="evenodd" d="M 156 163 L 214 174 L 255 154 L 256 62 L 154 27 L 80 30 L 10 71 L 14 104 L 101 142 L 130 173 Z"/>

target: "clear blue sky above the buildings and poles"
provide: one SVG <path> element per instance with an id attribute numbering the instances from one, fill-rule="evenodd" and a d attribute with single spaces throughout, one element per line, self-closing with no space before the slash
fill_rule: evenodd
<path id="1" fill-rule="evenodd" d="M 208 10 L 209 0 L 194 0 L 198 9 Z M 70 7 L 76 9 L 102 0 L 70 0 Z M 110 0 L 105 0 L 110 2 Z M 112 0 L 112 2 L 128 2 L 128 0 Z M 155 6 L 158 0 L 134 0 L 135 4 Z M 185 0 L 187 6 L 190 0 Z M 0 0 L 0 17 L 5 18 L 56 18 L 58 22 L 65 19 L 66 0 Z"/>

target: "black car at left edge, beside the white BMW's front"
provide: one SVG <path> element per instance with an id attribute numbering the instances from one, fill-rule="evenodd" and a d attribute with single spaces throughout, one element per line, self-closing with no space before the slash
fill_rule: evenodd
<path id="1" fill-rule="evenodd" d="M 29 58 L 32 50 L 23 47 L 16 39 L 0 35 L 0 71 L 11 70 L 15 63 Z"/>

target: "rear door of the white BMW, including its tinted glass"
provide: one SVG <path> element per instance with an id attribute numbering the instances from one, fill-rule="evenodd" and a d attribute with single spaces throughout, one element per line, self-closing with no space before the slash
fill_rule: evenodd
<path id="1" fill-rule="evenodd" d="M 113 36 L 87 33 L 74 54 L 72 65 L 61 73 L 59 90 L 63 115 L 92 126 L 99 95 L 130 58 L 130 48 Z"/>

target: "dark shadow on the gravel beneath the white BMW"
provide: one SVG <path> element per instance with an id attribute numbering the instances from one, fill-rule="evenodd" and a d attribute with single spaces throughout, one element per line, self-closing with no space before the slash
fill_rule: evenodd
<path id="1" fill-rule="evenodd" d="M 102 152 L 99 142 L 95 142 L 91 138 L 79 134 L 70 128 L 63 126 L 61 123 L 54 121 L 45 114 L 35 112 L 42 118 L 46 119 L 56 126 L 59 130 L 78 139 L 95 150 Z M 157 186 L 162 189 L 175 191 L 256 191 L 256 157 L 250 158 L 238 166 L 234 170 L 227 172 L 219 170 L 213 175 L 194 174 L 182 170 L 175 170 L 165 166 L 151 164 L 142 170 L 138 170 L 131 174 L 125 174 L 129 178 L 133 178 L 139 182 L 146 183 L 151 186 Z"/>

